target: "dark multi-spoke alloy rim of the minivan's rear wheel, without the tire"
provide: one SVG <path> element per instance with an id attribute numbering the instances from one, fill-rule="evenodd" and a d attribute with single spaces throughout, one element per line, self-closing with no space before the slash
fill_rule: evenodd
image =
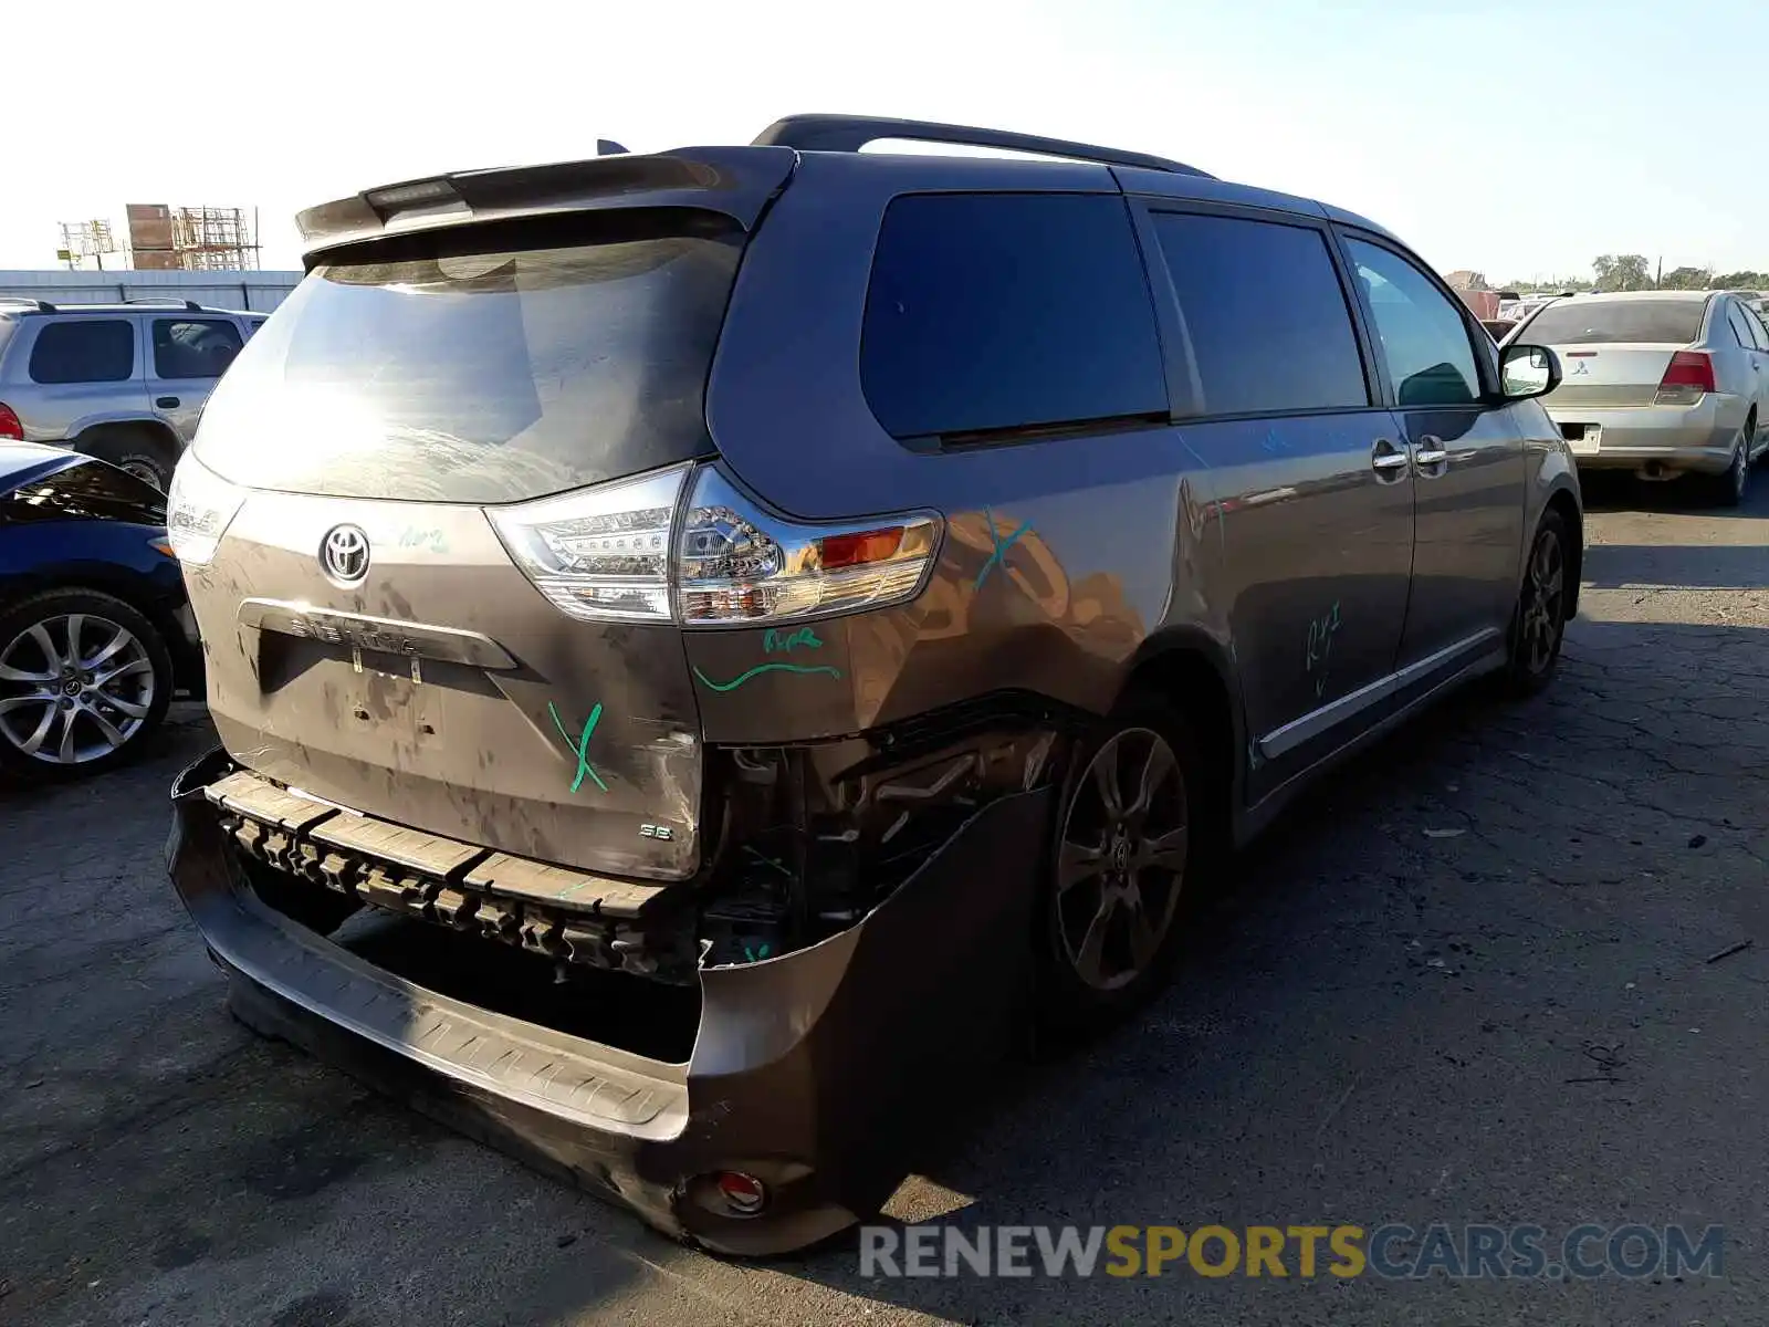
<path id="1" fill-rule="evenodd" d="M 1076 784 L 1056 862 L 1054 925 L 1074 975 L 1118 991 L 1173 929 L 1189 840 L 1185 773 L 1153 729 L 1116 733 Z"/>

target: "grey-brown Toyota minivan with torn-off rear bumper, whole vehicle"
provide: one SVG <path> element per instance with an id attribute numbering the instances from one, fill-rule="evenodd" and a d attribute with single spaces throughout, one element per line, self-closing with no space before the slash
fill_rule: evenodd
<path id="1" fill-rule="evenodd" d="M 299 225 L 168 499 L 173 881 L 249 1024 L 706 1247 L 876 1212 L 1574 610 L 1553 354 L 1336 207 L 794 117 Z"/>

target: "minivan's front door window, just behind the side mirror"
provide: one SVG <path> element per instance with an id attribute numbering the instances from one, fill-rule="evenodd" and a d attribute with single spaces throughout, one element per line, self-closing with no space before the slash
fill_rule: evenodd
<path id="1" fill-rule="evenodd" d="M 1477 402 L 1481 375 L 1461 310 L 1398 253 L 1357 239 L 1348 246 L 1396 400 L 1408 407 Z"/>

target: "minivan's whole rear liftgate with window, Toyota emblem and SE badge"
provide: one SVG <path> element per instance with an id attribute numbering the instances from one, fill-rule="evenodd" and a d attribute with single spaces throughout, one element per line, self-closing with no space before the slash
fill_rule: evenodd
<path id="1" fill-rule="evenodd" d="M 180 556 L 235 759 L 476 846 L 695 871 L 665 566 L 743 242 L 727 214 L 621 207 L 322 257 L 173 494 L 186 548 L 225 531 Z"/>

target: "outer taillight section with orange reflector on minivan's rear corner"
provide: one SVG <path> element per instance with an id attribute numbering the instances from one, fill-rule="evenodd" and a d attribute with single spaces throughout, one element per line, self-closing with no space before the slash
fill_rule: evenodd
<path id="1" fill-rule="evenodd" d="M 840 525 L 787 520 L 708 465 L 676 540 L 676 617 L 718 626 L 904 603 L 922 593 L 939 525 L 932 513 Z"/>

